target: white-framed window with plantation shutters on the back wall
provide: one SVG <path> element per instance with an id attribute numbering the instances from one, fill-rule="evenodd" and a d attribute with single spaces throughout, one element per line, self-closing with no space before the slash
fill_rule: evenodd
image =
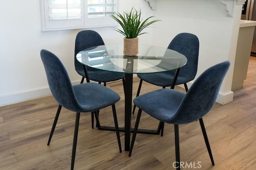
<path id="1" fill-rule="evenodd" d="M 117 25 L 109 15 L 118 0 L 41 0 L 42 30 L 79 29 Z"/>

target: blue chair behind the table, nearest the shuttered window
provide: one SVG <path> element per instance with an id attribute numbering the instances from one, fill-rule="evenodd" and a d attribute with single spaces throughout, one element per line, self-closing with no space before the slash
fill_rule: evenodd
<path id="1" fill-rule="evenodd" d="M 93 30 L 83 30 L 80 31 L 76 35 L 75 42 L 75 69 L 78 74 L 82 76 L 81 84 L 84 82 L 84 78 L 86 78 L 86 82 L 90 82 L 90 80 L 98 82 L 101 84 L 104 83 L 106 86 L 107 82 L 112 82 L 116 80 L 122 79 L 124 86 L 124 73 L 119 72 L 109 72 L 104 70 L 99 70 L 96 68 L 88 67 L 81 64 L 76 59 L 77 53 L 82 51 L 83 49 L 87 49 L 94 46 L 104 45 L 104 41 L 100 34 Z M 97 113 L 98 114 L 98 113 Z M 92 128 L 94 128 L 94 114 L 92 113 Z"/>

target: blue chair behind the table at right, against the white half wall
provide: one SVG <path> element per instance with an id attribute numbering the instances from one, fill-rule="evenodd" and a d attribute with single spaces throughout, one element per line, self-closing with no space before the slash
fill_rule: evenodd
<path id="1" fill-rule="evenodd" d="M 187 82 L 193 80 L 196 76 L 197 65 L 198 65 L 198 53 L 199 53 L 199 40 L 198 37 L 192 33 L 179 33 L 172 39 L 170 42 L 168 49 L 172 49 L 178 51 L 179 53 L 185 55 L 188 59 L 188 62 L 185 66 L 180 68 L 178 78 L 176 80 L 176 84 L 184 84 L 186 92 L 188 91 Z M 160 63 L 164 64 L 164 63 Z M 136 97 L 140 94 L 140 89 L 142 86 L 142 82 L 148 82 L 150 84 L 154 84 L 156 86 L 162 86 L 162 88 L 172 86 L 172 81 L 175 76 L 175 70 L 167 71 L 167 72 L 158 72 L 152 74 L 137 74 L 140 78 L 140 84 L 138 87 L 138 91 Z M 174 87 L 171 87 L 174 89 Z M 134 105 L 132 114 L 134 114 L 136 106 Z M 161 136 L 164 133 L 164 123 L 160 122 L 159 126 L 161 126 Z"/>

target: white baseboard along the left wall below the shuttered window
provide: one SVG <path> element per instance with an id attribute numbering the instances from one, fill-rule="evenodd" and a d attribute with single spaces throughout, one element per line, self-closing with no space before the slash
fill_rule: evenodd
<path id="1" fill-rule="evenodd" d="M 79 83 L 80 81 L 72 82 L 72 84 L 79 84 Z M 42 98 L 50 95 L 52 95 L 52 93 L 50 92 L 49 87 L 35 88 L 29 91 L 6 94 L 6 95 L 0 96 L 0 107 L 7 106 L 10 104 L 16 104 L 20 102 L 25 102 L 25 101 L 33 100 L 37 98 Z"/>

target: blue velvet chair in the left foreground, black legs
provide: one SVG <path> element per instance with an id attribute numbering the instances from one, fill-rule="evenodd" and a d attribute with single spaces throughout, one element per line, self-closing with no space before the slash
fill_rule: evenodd
<path id="1" fill-rule="evenodd" d="M 71 169 L 74 169 L 80 112 L 92 112 L 98 121 L 96 112 L 104 107 L 112 106 L 119 151 L 122 152 L 115 109 L 115 103 L 120 100 L 120 96 L 113 90 L 97 83 L 84 83 L 72 86 L 68 73 L 58 57 L 44 49 L 41 50 L 40 54 L 50 90 L 55 100 L 59 103 L 47 145 L 50 145 L 62 106 L 76 112 L 71 160 Z"/>

